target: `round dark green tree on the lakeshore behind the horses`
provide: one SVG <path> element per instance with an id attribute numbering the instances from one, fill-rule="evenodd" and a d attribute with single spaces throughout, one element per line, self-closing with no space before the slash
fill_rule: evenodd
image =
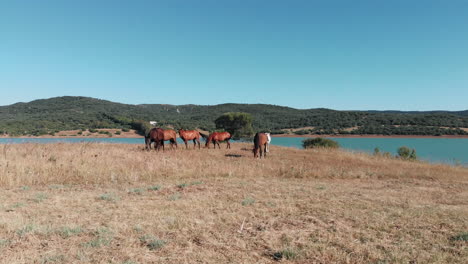
<path id="1" fill-rule="evenodd" d="M 230 112 L 218 117 L 215 124 L 216 128 L 224 129 L 231 133 L 234 139 L 239 139 L 253 136 L 252 120 L 252 115 L 249 113 Z"/>

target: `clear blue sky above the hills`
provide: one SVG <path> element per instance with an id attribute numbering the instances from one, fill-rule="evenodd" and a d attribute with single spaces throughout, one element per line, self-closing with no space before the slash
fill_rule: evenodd
<path id="1" fill-rule="evenodd" d="M 466 0 L 0 0 L 0 105 L 468 109 Z"/>

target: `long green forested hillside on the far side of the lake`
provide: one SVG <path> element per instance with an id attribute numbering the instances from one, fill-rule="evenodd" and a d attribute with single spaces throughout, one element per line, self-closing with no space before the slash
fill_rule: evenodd
<path id="1" fill-rule="evenodd" d="M 468 111 L 399 112 L 294 109 L 265 104 L 128 105 L 88 97 L 57 97 L 0 106 L 0 133 L 41 135 L 60 130 L 137 128 L 157 121 L 161 126 L 214 130 L 214 120 L 226 112 L 247 112 L 254 129 L 297 134 L 468 134 Z"/>

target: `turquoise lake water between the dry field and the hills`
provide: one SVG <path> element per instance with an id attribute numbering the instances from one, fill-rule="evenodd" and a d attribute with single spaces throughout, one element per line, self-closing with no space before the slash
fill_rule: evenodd
<path id="1" fill-rule="evenodd" d="M 298 137 L 274 137 L 272 145 L 301 148 Z M 443 162 L 468 166 L 468 138 L 333 138 L 341 147 L 350 151 L 373 153 L 378 147 L 381 152 L 393 155 L 401 146 L 416 149 L 418 157 L 430 162 Z M 124 144 L 144 144 L 143 138 L 0 138 L 0 143 L 14 144 L 25 142 L 106 142 Z M 183 143 L 178 139 L 179 143 Z"/>

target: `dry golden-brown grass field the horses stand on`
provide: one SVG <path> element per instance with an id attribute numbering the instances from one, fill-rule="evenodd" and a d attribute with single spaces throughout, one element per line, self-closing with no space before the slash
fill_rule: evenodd
<path id="1" fill-rule="evenodd" d="M 0 263 L 468 262 L 467 168 L 142 148 L 0 145 Z"/>

